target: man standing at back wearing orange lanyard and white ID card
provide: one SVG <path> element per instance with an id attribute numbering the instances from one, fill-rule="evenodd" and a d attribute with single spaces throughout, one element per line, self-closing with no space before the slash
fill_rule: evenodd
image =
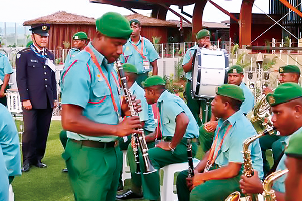
<path id="1" fill-rule="evenodd" d="M 158 53 L 154 49 L 152 43 L 145 37 L 140 35 L 141 24 L 137 19 L 130 20 L 130 26 L 133 29 L 130 39 L 123 47 L 122 63 L 133 64 L 138 71 L 137 84 L 141 85 L 149 76 L 158 74 L 157 59 Z"/>

